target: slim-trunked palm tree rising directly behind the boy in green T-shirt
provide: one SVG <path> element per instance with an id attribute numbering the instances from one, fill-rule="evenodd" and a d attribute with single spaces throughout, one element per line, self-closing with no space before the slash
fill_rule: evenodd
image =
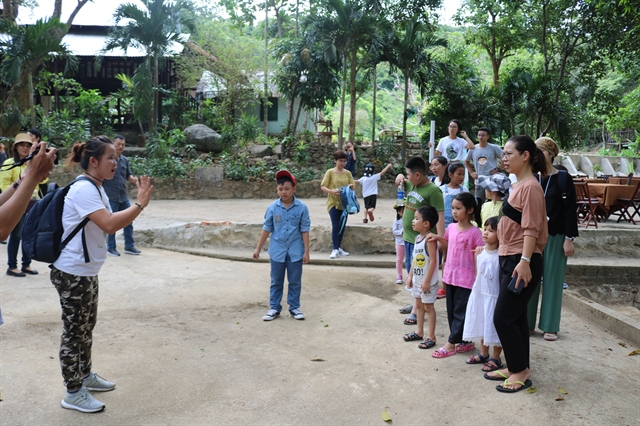
<path id="1" fill-rule="evenodd" d="M 384 56 L 391 72 L 400 71 L 404 75 L 404 109 L 402 121 L 402 162 L 407 151 L 407 105 L 409 102 L 409 80 L 413 81 L 424 96 L 430 69 L 436 66 L 428 49 L 446 46 L 446 41 L 427 34 L 425 25 L 413 17 L 401 25 L 392 42 L 385 47 Z"/>

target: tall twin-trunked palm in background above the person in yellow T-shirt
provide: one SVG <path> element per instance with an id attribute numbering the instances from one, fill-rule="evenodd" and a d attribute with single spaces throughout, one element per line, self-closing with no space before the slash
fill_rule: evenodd
<path id="1" fill-rule="evenodd" d="M 309 39 L 324 45 L 330 62 L 342 56 L 342 100 L 340 104 L 340 129 L 338 145 L 342 144 L 344 129 L 344 107 L 347 73 L 349 75 L 350 117 L 349 140 L 354 139 L 356 130 L 356 101 L 358 98 L 357 76 L 363 69 L 372 66 L 375 51 L 384 44 L 384 34 L 388 22 L 377 15 L 368 13 L 365 4 L 356 0 L 327 0 L 327 14 L 312 19 Z"/>

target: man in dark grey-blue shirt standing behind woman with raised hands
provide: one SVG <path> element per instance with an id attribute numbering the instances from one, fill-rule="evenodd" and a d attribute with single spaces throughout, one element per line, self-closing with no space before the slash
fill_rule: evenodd
<path id="1" fill-rule="evenodd" d="M 129 166 L 129 159 L 122 155 L 124 151 L 124 136 L 115 135 L 113 137 L 113 146 L 116 148 L 116 156 L 118 160 L 118 166 L 116 168 L 116 174 L 113 179 L 106 180 L 102 183 L 104 191 L 109 197 L 109 204 L 111 204 L 111 211 L 114 213 L 126 210 L 131 206 L 129 202 L 129 194 L 127 193 L 127 181 L 136 183 L 137 178 L 131 173 L 131 167 Z M 138 255 L 140 250 L 135 248 L 133 244 L 133 224 L 129 224 L 124 227 L 124 252 L 126 254 Z M 116 234 L 110 234 L 107 238 L 107 253 L 111 256 L 120 256 L 120 253 L 116 249 Z"/>

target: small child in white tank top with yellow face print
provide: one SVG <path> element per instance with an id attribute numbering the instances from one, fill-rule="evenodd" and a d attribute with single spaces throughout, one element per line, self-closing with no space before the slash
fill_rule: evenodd
<path id="1" fill-rule="evenodd" d="M 424 336 L 424 313 L 427 312 L 429 331 L 427 338 L 422 340 L 418 347 L 429 349 L 436 345 L 436 310 L 433 304 L 436 301 L 438 290 L 438 246 L 435 240 L 428 241 L 431 228 L 438 223 L 438 211 L 431 206 L 420 207 L 416 211 L 412 226 L 418 232 L 413 246 L 411 271 L 407 278 L 407 287 L 411 289 L 411 295 L 416 299 L 416 331 L 404 335 L 405 342 L 422 340 Z"/>

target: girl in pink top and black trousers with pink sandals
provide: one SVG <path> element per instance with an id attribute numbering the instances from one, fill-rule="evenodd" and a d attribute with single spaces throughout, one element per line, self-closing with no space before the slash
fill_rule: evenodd
<path id="1" fill-rule="evenodd" d="M 450 224 L 444 237 L 429 236 L 430 240 L 439 241 L 447 249 L 447 263 L 442 281 L 447 283 L 447 319 L 450 334 L 447 343 L 433 353 L 434 358 L 447 358 L 475 349 L 472 342 L 462 339 L 467 302 L 476 276 L 474 253 L 476 247 L 484 245 L 482 232 L 471 223 L 476 212 L 475 197 L 469 192 L 456 195 L 452 211 L 453 218 L 458 223 Z"/>

